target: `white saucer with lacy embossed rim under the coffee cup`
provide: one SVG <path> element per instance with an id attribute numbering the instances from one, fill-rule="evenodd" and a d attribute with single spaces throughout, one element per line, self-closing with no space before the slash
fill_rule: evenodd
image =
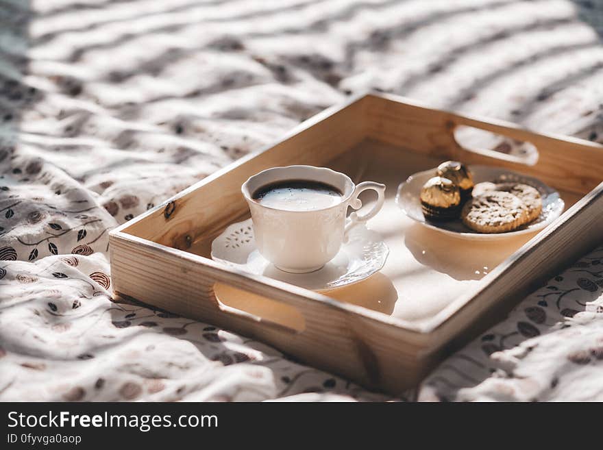
<path id="1" fill-rule="evenodd" d="M 251 218 L 233 223 L 212 242 L 212 260 L 281 282 L 318 292 L 367 279 L 385 264 L 389 248 L 378 233 L 358 224 L 348 242 L 323 268 L 311 273 L 288 273 L 265 260 L 256 249 Z"/>

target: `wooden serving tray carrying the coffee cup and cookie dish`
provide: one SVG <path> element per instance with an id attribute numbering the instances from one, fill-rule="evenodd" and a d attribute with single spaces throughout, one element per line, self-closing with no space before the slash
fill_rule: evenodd
<path id="1" fill-rule="evenodd" d="M 537 147 L 535 164 L 461 147 L 454 130 L 476 127 Z M 410 221 L 398 184 L 443 160 L 502 166 L 553 186 L 566 212 L 536 235 L 467 242 Z M 532 161 L 533 162 L 533 161 Z M 249 217 L 247 177 L 290 164 L 329 166 L 354 182 L 386 184 L 369 227 L 391 252 L 382 271 L 318 294 L 210 259 L 227 225 Z M 232 329 L 300 360 L 393 394 L 417 384 L 443 356 L 500 321 L 530 290 L 603 236 L 603 146 L 510 123 L 367 94 L 310 118 L 110 233 L 116 296 Z"/>

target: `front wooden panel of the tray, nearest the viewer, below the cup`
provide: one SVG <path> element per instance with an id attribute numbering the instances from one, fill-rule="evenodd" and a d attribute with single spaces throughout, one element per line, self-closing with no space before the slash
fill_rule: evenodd
<path id="1" fill-rule="evenodd" d="M 419 354 L 426 336 L 388 324 L 384 314 L 238 273 L 206 258 L 125 234 L 112 234 L 110 242 L 116 295 L 231 329 L 308 364 L 393 394 L 415 385 L 433 364 L 430 357 Z M 221 307 L 214 295 L 217 283 L 295 308 L 303 316 L 303 329 Z M 407 343 L 401 346 L 399 342 Z"/>

